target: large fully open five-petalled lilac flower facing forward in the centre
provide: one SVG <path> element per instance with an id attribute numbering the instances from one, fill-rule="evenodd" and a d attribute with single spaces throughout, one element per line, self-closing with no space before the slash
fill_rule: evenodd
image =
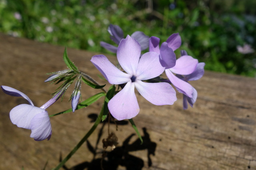
<path id="1" fill-rule="evenodd" d="M 177 100 L 176 92 L 170 84 L 142 82 L 162 74 L 164 67 L 157 53 L 148 52 L 141 58 L 140 53 L 138 41 L 127 35 L 126 39 L 121 40 L 116 54 L 120 66 L 126 73 L 116 68 L 104 55 L 95 55 L 91 59 L 110 84 L 126 83 L 108 102 L 110 113 L 118 120 L 131 119 L 139 113 L 135 87 L 146 100 L 155 105 L 171 105 Z"/>

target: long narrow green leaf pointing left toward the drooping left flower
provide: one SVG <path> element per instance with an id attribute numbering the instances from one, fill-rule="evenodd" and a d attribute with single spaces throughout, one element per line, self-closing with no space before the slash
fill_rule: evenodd
<path id="1" fill-rule="evenodd" d="M 93 104 L 94 102 L 96 102 L 97 100 L 99 100 L 102 96 L 106 96 L 106 94 L 104 92 L 102 93 L 98 93 L 98 94 L 95 94 L 94 96 L 84 100 L 83 102 L 81 102 L 80 104 L 78 104 L 78 106 L 76 107 L 76 110 L 78 109 L 82 109 L 84 107 L 87 107 L 91 104 Z M 52 116 L 56 116 L 56 115 L 60 115 L 60 114 L 64 114 L 64 113 L 69 113 L 69 112 L 72 112 L 72 108 L 71 109 L 68 109 L 68 110 L 65 110 L 65 111 L 62 111 L 60 113 L 56 113 L 56 114 L 53 114 L 53 115 L 50 115 L 49 117 L 52 117 Z"/>

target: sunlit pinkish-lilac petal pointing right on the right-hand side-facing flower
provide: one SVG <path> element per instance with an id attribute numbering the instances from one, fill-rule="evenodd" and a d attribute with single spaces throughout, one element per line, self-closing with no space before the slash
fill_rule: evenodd
<path id="1" fill-rule="evenodd" d="M 194 72 L 197 64 L 197 59 L 194 59 L 189 55 L 183 55 L 176 60 L 176 65 L 170 68 L 170 70 L 176 74 L 188 75 Z"/>

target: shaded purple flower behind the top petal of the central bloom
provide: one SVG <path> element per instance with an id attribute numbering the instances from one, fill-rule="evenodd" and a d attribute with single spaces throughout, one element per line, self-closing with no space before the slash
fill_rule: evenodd
<path id="1" fill-rule="evenodd" d="M 108 27 L 108 32 L 110 33 L 110 38 L 112 39 L 112 41 L 114 41 L 117 45 L 119 45 L 120 41 L 124 38 L 124 32 L 118 25 L 110 24 Z M 138 43 L 141 46 L 141 50 L 148 48 L 149 37 L 145 35 L 143 32 L 135 31 L 134 33 L 132 33 L 131 37 L 135 38 L 138 41 Z M 110 45 L 103 41 L 100 41 L 100 45 L 113 53 L 116 53 L 117 51 L 116 46 Z"/>

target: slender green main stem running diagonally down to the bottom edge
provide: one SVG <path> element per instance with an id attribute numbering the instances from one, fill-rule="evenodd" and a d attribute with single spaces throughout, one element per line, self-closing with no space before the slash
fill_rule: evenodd
<path id="1" fill-rule="evenodd" d="M 86 133 L 86 135 L 81 139 L 81 141 L 74 147 L 73 150 L 71 150 L 71 152 L 66 156 L 66 158 L 64 158 L 60 164 L 58 164 L 58 166 L 56 166 L 56 168 L 52 169 L 52 170 L 58 170 L 60 169 L 68 160 L 69 158 L 71 158 L 71 156 L 81 147 L 81 145 L 88 139 L 88 137 L 90 137 L 90 135 L 94 132 L 94 130 L 96 129 L 96 127 L 98 126 L 98 124 L 100 123 L 100 121 L 102 120 L 102 115 L 104 112 L 104 105 L 102 106 L 102 109 L 100 111 L 100 115 L 98 116 L 98 118 L 96 119 L 94 125 L 91 127 L 91 129 L 88 131 L 88 133 Z"/>

